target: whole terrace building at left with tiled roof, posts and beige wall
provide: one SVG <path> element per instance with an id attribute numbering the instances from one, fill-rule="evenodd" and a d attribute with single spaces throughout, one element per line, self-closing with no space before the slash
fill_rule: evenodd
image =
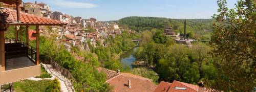
<path id="1" fill-rule="evenodd" d="M 0 8 L 0 85 L 39 76 L 39 26 L 63 26 L 66 24 L 58 20 L 20 12 L 21 0 L 1 0 L 0 2 L 9 5 L 15 4 L 18 7 L 17 11 Z M 5 31 L 8 31 L 10 26 L 15 27 L 15 38 L 5 38 Z M 26 28 L 20 29 L 17 26 L 26 26 Z M 36 47 L 29 44 L 30 26 L 36 27 L 34 34 Z M 22 40 L 21 30 L 25 30 L 26 40 Z"/>

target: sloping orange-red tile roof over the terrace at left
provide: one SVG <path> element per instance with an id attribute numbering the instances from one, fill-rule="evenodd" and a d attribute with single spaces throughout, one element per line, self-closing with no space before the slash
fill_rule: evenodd
<path id="1" fill-rule="evenodd" d="M 16 10 L 1 8 L 0 23 L 17 24 Z M 67 25 L 64 22 L 20 12 L 20 25 Z"/>

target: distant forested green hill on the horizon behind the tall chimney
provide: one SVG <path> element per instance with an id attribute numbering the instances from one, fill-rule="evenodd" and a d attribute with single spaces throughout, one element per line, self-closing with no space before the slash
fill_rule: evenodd
<path id="1" fill-rule="evenodd" d="M 117 22 L 123 27 L 129 27 L 137 32 L 152 29 L 164 29 L 164 26 L 171 26 L 177 33 L 183 34 L 185 19 L 170 19 L 161 17 L 125 17 Z M 186 19 L 186 29 L 192 38 L 208 40 L 212 32 L 211 19 Z"/>

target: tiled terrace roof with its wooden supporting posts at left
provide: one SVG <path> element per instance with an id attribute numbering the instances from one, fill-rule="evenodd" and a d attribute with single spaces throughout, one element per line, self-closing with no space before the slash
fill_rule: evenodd
<path id="1" fill-rule="evenodd" d="M 0 49 L 1 49 L 1 65 L 2 70 L 5 71 L 5 35 L 4 31 L 7 31 L 9 26 L 15 26 L 16 40 L 22 40 L 22 30 L 17 29 L 17 26 L 26 26 L 26 44 L 29 45 L 28 31 L 30 26 L 36 26 L 36 65 L 39 64 L 39 26 L 63 26 L 67 25 L 64 22 L 48 19 L 40 16 L 35 16 L 27 13 L 20 12 L 19 5 L 22 0 L 1 0 L 5 4 L 16 4 L 17 10 L 1 8 L 0 13 Z M 18 38 L 19 34 L 19 38 Z"/>

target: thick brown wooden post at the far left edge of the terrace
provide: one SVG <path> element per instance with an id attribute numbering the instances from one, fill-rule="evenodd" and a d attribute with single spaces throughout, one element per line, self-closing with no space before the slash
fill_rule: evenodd
<path id="1" fill-rule="evenodd" d="M 1 70 L 0 71 L 5 71 L 5 32 L 0 31 L 0 49 L 1 49 Z"/>

